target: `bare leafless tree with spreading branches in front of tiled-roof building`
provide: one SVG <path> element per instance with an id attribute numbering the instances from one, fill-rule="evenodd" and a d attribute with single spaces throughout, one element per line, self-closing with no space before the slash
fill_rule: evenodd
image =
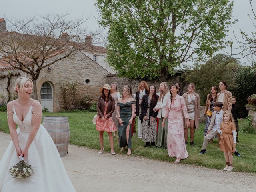
<path id="1" fill-rule="evenodd" d="M 42 69 L 74 57 L 79 50 L 93 50 L 92 42 L 85 43 L 85 38 L 96 33 L 82 27 L 88 19 L 66 20 L 67 15 L 7 20 L 8 30 L 0 33 L 0 61 L 32 77 L 35 99 L 38 99 L 36 80 Z"/>

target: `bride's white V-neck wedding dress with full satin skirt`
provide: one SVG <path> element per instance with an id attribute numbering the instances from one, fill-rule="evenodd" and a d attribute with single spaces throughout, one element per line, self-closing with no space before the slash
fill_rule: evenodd
<path id="1" fill-rule="evenodd" d="M 33 104 L 32 104 L 33 105 Z M 17 133 L 21 149 L 24 149 L 30 130 L 32 130 L 31 106 L 23 122 L 18 118 L 15 105 L 13 120 L 18 125 Z M 46 129 L 40 125 L 36 136 L 28 149 L 25 162 L 32 165 L 34 173 L 28 178 L 19 180 L 12 178 L 10 167 L 18 162 L 15 146 L 11 141 L 0 161 L 0 191 L 1 192 L 75 192 L 68 174 L 64 168 L 58 150 Z"/>

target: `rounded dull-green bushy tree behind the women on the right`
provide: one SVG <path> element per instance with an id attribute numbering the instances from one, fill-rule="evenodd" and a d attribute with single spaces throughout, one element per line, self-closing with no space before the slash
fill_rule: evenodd
<path id="1" fill-rule="evenodd" d="M 225 54 L 217 54 L 205 64 L 196 64 L 185 75 L 187 83 L 194 83 L 196 91 L 200 95 L 200 104 L 204 105 L 206 96 L 213 85 L 218 87 L 221 80 L 228 84 L 228 90 L 233 93 L 236 89 L 236 72 L 240 64 L 238 60 Z"/>

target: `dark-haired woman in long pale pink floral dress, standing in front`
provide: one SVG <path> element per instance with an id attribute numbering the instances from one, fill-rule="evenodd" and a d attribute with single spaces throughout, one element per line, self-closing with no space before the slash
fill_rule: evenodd
<path id="1" fill-rule="evenodd" d="M 184 98 L 177 94 L 178 87 L 173 84 L 170 88 L 170 98 L 166 102 L 166 115 L 163 118 L 162 126 L 165 126 L 165 120 L 168 117 L 168 135 L 167 135 L 167 149 L 170 157 L 176 157 L 174 163 L 179 163 L 181 159 L 188 157 L 186 149 L 184 132 L 183 132 L 183 117 L 182 112 L 186 118 L 186 126 L 190 126 L 188 120 L 188 111 Z"/>

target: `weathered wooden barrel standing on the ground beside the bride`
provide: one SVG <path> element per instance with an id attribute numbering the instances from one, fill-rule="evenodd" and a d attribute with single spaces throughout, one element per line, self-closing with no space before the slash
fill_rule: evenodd
<path id="1" fill-rule="evenodd" d="M 70 139 L 70 129 L 68 117 L 65 116 L 45 116 L 43 126 L 50 134 L 61 157 L 68 153 Z"/>

